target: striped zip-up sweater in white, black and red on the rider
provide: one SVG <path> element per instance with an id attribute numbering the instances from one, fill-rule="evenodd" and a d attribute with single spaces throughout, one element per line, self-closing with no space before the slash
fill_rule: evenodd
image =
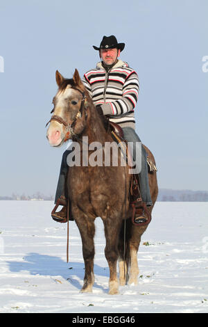
<path id="1" fill-rule="evenodd" d="M 102 63 L 84 74 L 83 83 L 95 106 L 121 127 L 135 129 L 134 109 L 139 95 L 139 79 L 135 70 L 119 60 L 106 72 Z"/>

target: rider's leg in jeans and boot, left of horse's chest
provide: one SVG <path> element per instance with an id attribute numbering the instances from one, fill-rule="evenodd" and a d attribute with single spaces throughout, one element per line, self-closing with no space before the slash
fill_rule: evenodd
<path id="1" fill-rule="evenodd" d="M 58 178 L 58 185 L 55 193 L 55 207 L 51 212 L 51 217 L 54 221 L 58 221 L 60 223 L 67 222 L 67 206 L 70 205 L 69 201 L 67 201 L 67 191 L 66 191 L 66 181 L 67 181 L 67 173 L 69 166 L 67 165 L 67 156 L 71 152 L 71 150 L 66 150 L 62 155 L 62 163 L 60 166 L 60 175 Z M 62 206 L 60 212 L 56 212 L 59 206 Z M 71 206 L 70 206 L 71 207 Z M 73 217 L 71 216 L 71 210 L 69 207 L 69 220 L 73 221 Z"/>

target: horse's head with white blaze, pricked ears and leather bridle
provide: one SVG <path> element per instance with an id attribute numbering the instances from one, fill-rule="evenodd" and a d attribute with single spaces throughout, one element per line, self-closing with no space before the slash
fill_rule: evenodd
<path id="1" fill-rule="evenodd" d="M 85 129 L 89 95 L 78 70 L 75 70 L 72 79 L 65 79 L 57 70 L 55 79 L 58 92 L 53 97 L 53 115 L 46 124 L 50 124 L 46 137 L 51 146 L 58 147 Z"/>

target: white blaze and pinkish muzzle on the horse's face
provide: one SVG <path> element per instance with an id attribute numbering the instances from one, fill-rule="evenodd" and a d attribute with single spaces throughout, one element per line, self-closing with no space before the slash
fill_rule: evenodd
<path id="1" fill-rule="evenodd" d="M 58 91 L 55 95 L 55 110 L 53 115 L 58 115 L 60 118 L 65 120 L 64 109 L 66 108 L 67 102 L 65 101 L 73 93 L 71 86 L 67 86 L 64 91 Z M 47 138 L 51 146 L 62 145 L 62 141 L 65 137 L 65 127 L 60 122 L 52 120 L 47 131 Z"/>

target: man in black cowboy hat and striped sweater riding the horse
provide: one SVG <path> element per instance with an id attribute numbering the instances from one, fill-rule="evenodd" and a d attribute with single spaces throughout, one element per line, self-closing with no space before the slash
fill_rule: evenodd
<path id="1" fill-rule="evenodd" d="M 118 43 L 114 35 L 109 37 L 103 36 L 100 47 L 93 47 L 99 51 L 101 61 L 96 65 L 96 68 L 84 74 L 83 83 L 89 95 L 91 95 L 98 112 L 107 115 L 110 121 L 116 122 L 122 127 L 123 138 L 134 145 L 131 150 L 132 157 L 135 160 L 137 144 L 141 143 L 139 136 L 135 132 L 134 109 L 139 95 L 137 73 L 128 66 L 128 63 L 119 60 L 125 44 Z M 55 203 L 60 205 L 66 204 L 64 202 L 64 182 L 68 171 L 68 154 L 69 151 L 65 151 L 63 154 L 58 189 L 55 195 Z M 137 172 L 139 173 L 141 198 L 147 206 L 150 206 L 152 205 L 152 200 L 148 185 L 148 168 L 144 147 L 141 147 L 141 157 L 139 160 L 141 165 L 136 164 L 136 166 L 141 166 L 141 172 Z M 65 222 L 66 207 L 63 207 L 60 212 L 53 210 L 52 217 L 56 221 Z M 136 223 L 143 221 L 146 221 L 146 216 L 143 213 L 135 218 Z"/>

